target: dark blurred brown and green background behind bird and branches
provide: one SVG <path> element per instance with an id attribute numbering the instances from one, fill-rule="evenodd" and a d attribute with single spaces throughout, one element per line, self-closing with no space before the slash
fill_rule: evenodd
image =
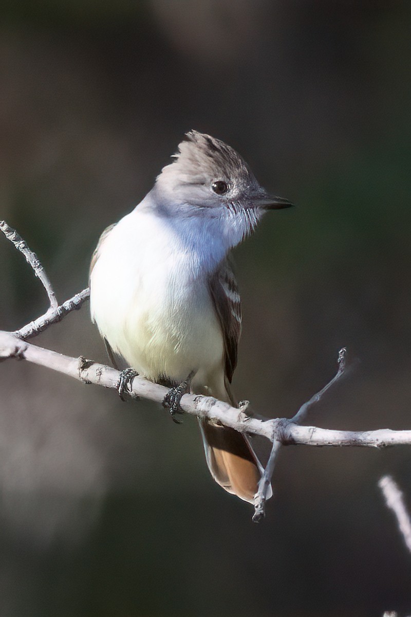
<path id="1" fill-rule="evenodd" d="M 298 204 L 235 254 L 234 387 L 308 423 L 411 428 L 411 4 L 4 0 L 0 218 L 60 302 L 105 226 L 185 131 L 235 147 Z M 47 306 L 0 238 L 0 328 Z M 88 306 L 35 339 L 107 362 Z M 197 422 L 34 365 L 0 366 L 0 614 L 308 617 L 411 612 L 411 555 L 376 483 L 411 508 L 411 449 L 280 452 L 264 523 L 212 481 Z"/>

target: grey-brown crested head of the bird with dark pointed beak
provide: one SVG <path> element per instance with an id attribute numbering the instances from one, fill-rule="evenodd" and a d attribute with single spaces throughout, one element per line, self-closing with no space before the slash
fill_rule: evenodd
<path id="1" fill-rule="evenodd" d="M 293 205 L 269 195 L 238 152 L 223 141 L 197 131 L 185 138 L 154 189 L 157 203 L 173 218 L 218 219 L 227 233 L 232 230 L 235 246 L 264 212 Z"/>

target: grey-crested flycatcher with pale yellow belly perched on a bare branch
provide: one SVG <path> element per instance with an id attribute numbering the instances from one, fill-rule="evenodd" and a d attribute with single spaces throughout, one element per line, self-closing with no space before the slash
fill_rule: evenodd
<path id="1" fill-rule="evenodd" d="M 270 197 L 227 144 L 186 137 L 150 193 L 104 231 L 90 275 L 91 316 L 108 350 L 170 387 L 172 413 L 184 384 L 235 405 L 241 307 L 229 252 L 266 210 L 292 205 Z M 200 426 L 213 478 L 252 503 L 261 465 L 248 439 L 208 420 Z"/>

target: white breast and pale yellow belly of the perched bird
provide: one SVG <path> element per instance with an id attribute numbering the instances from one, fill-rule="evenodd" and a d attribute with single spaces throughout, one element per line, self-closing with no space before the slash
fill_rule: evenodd
<path id="1" fill-rule="evenodd" d="M 203 384 L 221 372 L 221 328 L 198 259 L 156 215 L 137 209 L 113 228 L 90 284 L 92 319 L 137 372 L 179 383 L 199 371 Z"/>

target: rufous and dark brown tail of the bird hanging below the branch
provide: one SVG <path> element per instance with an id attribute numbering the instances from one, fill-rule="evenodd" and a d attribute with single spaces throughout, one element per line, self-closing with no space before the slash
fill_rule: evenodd
<path id="1" fill-rule="evenodd" d="M 234 404 L 229 387 L 227 399 Z M 199 422 L 207 465 L 214 480 L 229 493 L 253 503 L 262 466 L 248 438 L 233 428 L 209 420 L 201 419 Z"/>

